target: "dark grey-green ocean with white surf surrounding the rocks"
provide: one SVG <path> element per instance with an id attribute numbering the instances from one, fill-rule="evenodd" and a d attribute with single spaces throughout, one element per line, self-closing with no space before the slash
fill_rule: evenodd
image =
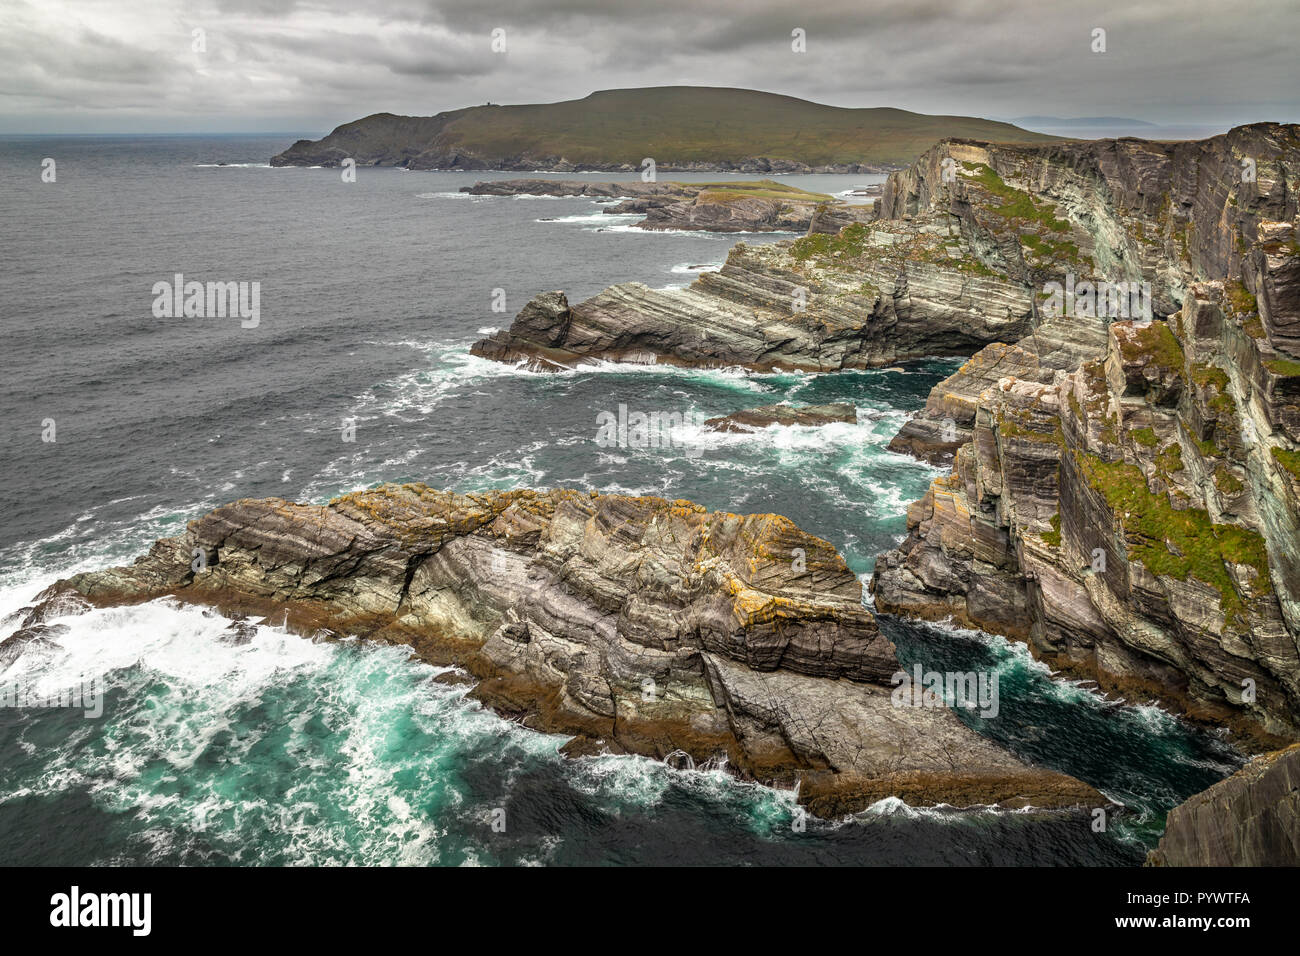
<path id="1" fill-rule="evenodd" d="M 270 168 L 296 138 L 0 139 L 0 633 L 58 578 L 129 562 L 222 502 L 380 481 L 775 511 L 864 578 L 902 538 L 940 472 L 885 446 L 952 359 L 543 375 L 469 355 L 540 291 L 681 286 L 737 241 L 788 237 L 644 233 L 588 199 L 458 191 L 512 173 Z M 844 193 L 883 177 L 780 178 Z M 153 287 L 176 274 L 257 282 L 256 325 L 157 317 Z M 711 416 L 786 399 L 853 402 L 859 421 L 720 436 L 703 454 L 595 441 L 620 403 Z M 482 709 L 400 648 L 269 626 L 234 645 L 218 615 L 165 601 L 58 623 L 58 646 L 0 684 L 99 682 L 103 714 L 0 706 L 0 864 L 1136 865 L 1171 806 L 1243 761 L 1022 645 L 881 618 L 907 669 L 996 671 L 998 715 L 962 719 L 1123 810 L 1097 831 L 1082 813 L 885 800 L 800 826 L 793 793 L 725 769 L 560 757 L 564 737 Z"/>

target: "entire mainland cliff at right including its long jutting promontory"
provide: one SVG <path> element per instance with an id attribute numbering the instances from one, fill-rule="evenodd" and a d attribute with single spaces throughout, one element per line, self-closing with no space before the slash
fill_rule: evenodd
<path id="1" fill-rule="evenodd" d="M 689 289 L 546 293 L 474 346 L 836 371 L 968 355 L 894 441 L 952 460 L 876 606 L 1030 644 L 1252 745 L 1300 735 L 1300 129 L 949 140 L 876 219 Z M 1098 306 L 1100 293 L 1100 306 Z"/>

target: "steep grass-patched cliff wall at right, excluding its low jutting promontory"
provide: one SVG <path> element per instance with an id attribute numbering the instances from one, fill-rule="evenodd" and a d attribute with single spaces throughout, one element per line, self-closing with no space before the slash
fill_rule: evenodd
<path id="1" fill-rule="evenodd" d="M 890 178 L 881 215 L 958 220 L 982 261 L 1041 284 L 1036 312 L 1050 282 L 1139 281 L 1150 317 L 1075 295 L 935 389 L 896 447 L 956 450 L 954 468 L 878 562 L 880 610 L 1024 639 L 1256 739 L 1300 735 L 1297 187 L 1300 130 L 1273 124 L 953 142 Z"/>

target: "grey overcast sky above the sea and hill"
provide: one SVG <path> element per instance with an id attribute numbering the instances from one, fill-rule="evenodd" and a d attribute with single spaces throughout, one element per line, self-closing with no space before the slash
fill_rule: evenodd
<path id="1" fill-rule="evenodd" d="M 1300 0 L 0 0 L 0 131 L 320 135 L 384 111 L 677 83 L 985 117 L 1296 122 L 1297 27 Z"/>

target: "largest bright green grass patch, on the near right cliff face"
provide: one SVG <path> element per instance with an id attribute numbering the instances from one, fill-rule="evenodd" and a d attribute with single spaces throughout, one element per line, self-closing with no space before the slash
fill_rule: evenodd
<path id="1" fill-rule="evenodd" d="M 1269 559 L 1258 532 L 1216 524 L 1202 509 L 1175 509 L 1166 494 L 1152 494 L 1135 464 L 1078 453 L 1076 460 L 1123 528 L 1131 559 L 1154 575 L 1180 581 L 1195 578 L 1208 584 L 1219 593 L 1227 619 L 1244 626 L 1245 602 L 1225 562 L 1254 568 L 1256 589 L 1269 591 Z"/>

